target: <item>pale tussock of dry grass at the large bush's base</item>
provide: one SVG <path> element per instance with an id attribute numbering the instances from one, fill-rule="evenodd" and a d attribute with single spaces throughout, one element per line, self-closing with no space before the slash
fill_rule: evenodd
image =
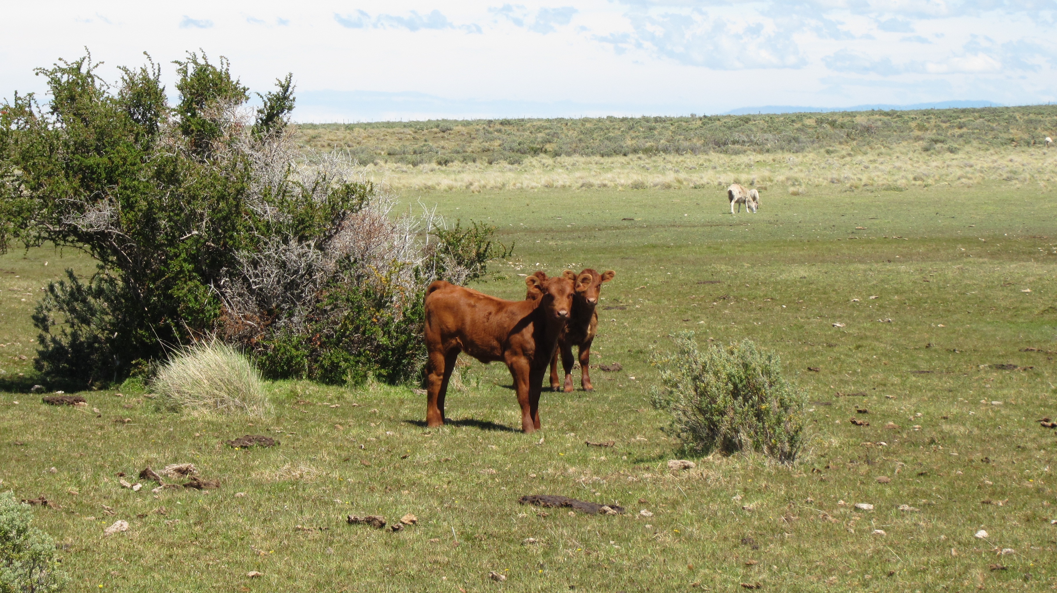
<path id="1" fill-rule="evenodd" d="M 220 341 L 202 342 L 178 352 L 157 372 L 153 386 L 162 405 L 172 410 L 258 416 L 270 410 L 260 371 L 237 350 Z"/>

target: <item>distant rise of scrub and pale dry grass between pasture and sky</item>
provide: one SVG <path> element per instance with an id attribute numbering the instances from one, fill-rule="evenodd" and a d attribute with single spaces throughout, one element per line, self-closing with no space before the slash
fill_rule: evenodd
<path id="1" fill-rule="evenodd" d="M 397 190 L 811 186 L 896 190 L 985 181 L 1049 188 L 1057 106 L 724 115 L 303 125 Z"/>

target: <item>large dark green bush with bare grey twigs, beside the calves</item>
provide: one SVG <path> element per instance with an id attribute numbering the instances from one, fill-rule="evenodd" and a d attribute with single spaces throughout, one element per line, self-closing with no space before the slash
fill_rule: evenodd
<path id="1" fill-rule="evenodd" d="M 305 156 L 291 76 L 251 110 L 226 59 L 175 63 L 172 106 L 152 61 L 110 86 L 90 56 L 38 70 L 48 105 L 0 105 L 0 248 L 51 243 L 98 262 L 38 304 L 37 368 L 101 387 L 219 335 L 275 376 L 411 376 L 412 301 L 435 278 L 483 274 L 495 229 L 393 216 L 395 197 L 348 154 Z"/>

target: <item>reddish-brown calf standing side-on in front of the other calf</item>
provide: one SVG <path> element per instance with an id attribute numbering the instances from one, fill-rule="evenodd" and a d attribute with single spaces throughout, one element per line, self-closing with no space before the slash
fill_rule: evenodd
<path id="1" fill-rule="evenodd" d="M 573 275 L 568 271 L 569 276 Z M 540 427 L 539 395 L 546 364 L 573 307 L 567 276 L 528 276 L 532 299 L 513 301 L 438 280 L 426 290 L 426 424 L 444 425 L 444 396 L 460 352 L 482 363 L 502 362 L 514 377 L 521 429 Z"/>

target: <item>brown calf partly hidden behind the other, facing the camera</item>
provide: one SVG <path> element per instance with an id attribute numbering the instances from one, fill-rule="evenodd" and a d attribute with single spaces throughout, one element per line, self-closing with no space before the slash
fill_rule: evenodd
<path id="1" fill-rule="evenodd" d="M 598 274 L 590 267 L 575 274 L 565 271 L 564 277 L 575 282 L 576 295 L 573 297 L 573 311 L 565 326 L 565 331 L 558 338 L 558 348 L 554 352 L 551 360 L 551 389 L 558 391 L 562 385 L 558 379 L 558 353 L 561 353 L 561 366 L 565 370 L 564 391 L 573 390 L 573 346 L 579 350 L 580 359 L 580 385 L 585 391 L 592 391 L 591 372 L 588 368 L 591 365 L 591 342 L 594 340 L 598 329 L 598 313 L 595 307 L 598 304 L 598 294 L 601 292 L 602 282 L 609 282 L 616 275 L 612 270 Z M 546 274 L 537 272 L 536 277 L 545 279 Z M 525 298 L 537 298 L 532 288 Z"/>

